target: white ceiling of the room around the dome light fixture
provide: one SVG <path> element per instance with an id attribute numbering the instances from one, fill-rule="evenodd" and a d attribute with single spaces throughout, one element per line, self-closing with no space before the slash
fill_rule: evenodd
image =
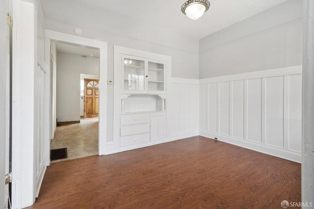
<path id="1" fill-rule="evenodd" d="M 86 15 L 86 23 L 120 15 L 134 23 L 146 23 L 200 39 L 286 0 L 209 0 L 209 10 L 198 20 L 181 12 L 185 0 L 41 0 L 47 18 L 68 21 L 69 15 Z M 91 18 L 93 10 L 104 17 Z M 70 13 L 70 14 L 68 14 Z M 114 14 L 114 16 L 112 15 Z"/>

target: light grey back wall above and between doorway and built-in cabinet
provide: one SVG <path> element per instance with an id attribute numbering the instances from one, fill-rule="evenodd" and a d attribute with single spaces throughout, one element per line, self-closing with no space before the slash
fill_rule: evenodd
<path id="1" fill-rule="evenodd" d="M 70 18 L 67 21 L 46 19 L 47 29 L 76 35 L 74 28 L 80 27 L 82 29 L 81 36 L 107 42 L 108 79 L 113 80 L 113 45 L 169 55 L 172 57 L 172 77 L 199 78 L 199 41 L 196 39 L 171 33 L 158 27 L 130 23 L 130 20 L 124 17 L 112 18 L 110 16 L 104 21 L 115 19 L 114 22 L 110 21 L 109 25 L 96 26 L 93 25 L 94 22 L 90 22 L 90 25 L 81 24 L 84 22 L 81 18 L 84 19 L 85 15 L 84 17 L 77 17 L 70 13 L 66 15 L 69 17 L 64 18 Z M 88 16 L 93 19 L 94 16 L 98 18 L 103 15 L 102 11 L 97 11 Z M 130 26 L 136 27 L 136 29 L 130 29 Z M 107 140 L 113 141 L 113 85 L 107 87 Z"/>

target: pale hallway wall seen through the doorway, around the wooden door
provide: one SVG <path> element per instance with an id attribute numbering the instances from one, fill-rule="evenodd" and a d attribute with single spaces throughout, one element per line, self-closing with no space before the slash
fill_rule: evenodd
<path id="1" fill-rule="evenodd" d="M 79 121 L 80 74 L 99 75 L 99 58 L 57 53 L 57 60 L 57 121 Z"/>

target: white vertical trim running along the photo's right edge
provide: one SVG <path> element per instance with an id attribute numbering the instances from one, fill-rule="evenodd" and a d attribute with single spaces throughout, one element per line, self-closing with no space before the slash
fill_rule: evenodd
<path id="1" fill-rule="evenodd" d="M 306 203 L 314 201 L 314 0 L 304 0 L 303 14 L 301 194 Z"/>

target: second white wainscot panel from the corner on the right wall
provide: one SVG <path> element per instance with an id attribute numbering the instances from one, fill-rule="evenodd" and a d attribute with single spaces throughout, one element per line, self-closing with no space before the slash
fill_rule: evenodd
<path id="1" fill-rule="evenodd" d="M 209 126 L 208 130 L 217 132 L 217 83 L 209 83 Z"/>

